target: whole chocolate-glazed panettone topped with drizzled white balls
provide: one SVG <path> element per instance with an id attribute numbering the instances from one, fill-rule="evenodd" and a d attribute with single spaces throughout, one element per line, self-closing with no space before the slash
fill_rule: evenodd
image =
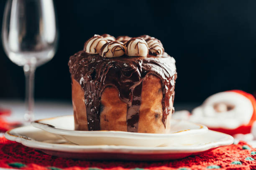
<path id="1" fill-rule="evenodd" d="M 168 133 L 177 72 L 156 38 L 94 35 L 69 70 L 75 130 Z"/>

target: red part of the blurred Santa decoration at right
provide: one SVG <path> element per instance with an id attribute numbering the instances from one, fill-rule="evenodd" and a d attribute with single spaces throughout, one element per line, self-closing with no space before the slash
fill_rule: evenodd
<path id="1" fill-rule="evenodd" d="M 242 125 L 236 129 L 223 129 L 223 128 L 209 128 L 209 129 L 215 130 L 218 132 L 222 132 L 222 133 L 227 133 L 229 135 L 235 135 L 237 133 L 242 133 L 242 134 L 251 133 L 251 126 L 252 126 L 253 122 L 256 120 L 255 97 L 253 95 L 251 95 L 250 93 L 244 92 L 242 90 L 230 90 L 230 92 L 237 92 L 237 93 L 247 97 L 251 101 L 251 104 L 253 105 L 253 115 L 251 116 L 250 122 L 247 125 Z"/>

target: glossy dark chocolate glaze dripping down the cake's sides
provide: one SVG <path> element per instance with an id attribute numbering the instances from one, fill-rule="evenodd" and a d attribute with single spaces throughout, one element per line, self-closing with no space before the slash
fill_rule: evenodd
<path id="1" fill-rule="evenodd" d="M 69 60 L 71 76 L 84 89 L 88 130 L 100 130 L 100 97 L 103 90 L 112 86 L 119 91 L 120 100 L 127 103 L 127 131 L 137 132 L 143 79 L 156 75 L 162 82 L 162 122 L 172 113 L 170 97 L 174 94 L 177 78 L 174 58 L 164 53 L 161 57 L 103 58 L 97 54 L 79 51 Z M 172 98 L 173 100 L 173 98 Z"/>

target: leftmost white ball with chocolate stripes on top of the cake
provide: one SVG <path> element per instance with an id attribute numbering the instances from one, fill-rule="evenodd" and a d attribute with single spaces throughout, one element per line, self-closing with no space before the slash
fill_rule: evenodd
<path id="1" fill-rule="evenodd" d="M 108 40 L 95 34 L 84 43 L 84 51 L 89 54 L 99 54 L 100 48 L 107 42 Z"/>

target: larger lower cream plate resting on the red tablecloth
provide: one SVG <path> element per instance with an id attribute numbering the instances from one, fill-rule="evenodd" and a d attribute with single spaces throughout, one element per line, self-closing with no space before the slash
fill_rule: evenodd
<path id="1" fill-rule="evenodd" d="M 233 143 L 230 135 L 206 130 L 202 133 L 179 135 L 165 147 L 75 145 L 31 125 L 9 130 L 5 133 L 5 138 L 50 155 L 86 160 L 173 160 Z"/>

